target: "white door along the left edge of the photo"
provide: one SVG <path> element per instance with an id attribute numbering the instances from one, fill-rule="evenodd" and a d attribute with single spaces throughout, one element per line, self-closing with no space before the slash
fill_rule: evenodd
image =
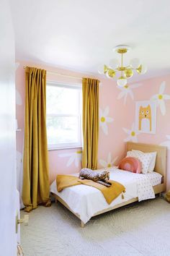
<path id="1" fill-rule="evenodd" d="M 15 216 L 14 30 L 8 0 L 0 1 L 0 255 L 17 255 Z"/>

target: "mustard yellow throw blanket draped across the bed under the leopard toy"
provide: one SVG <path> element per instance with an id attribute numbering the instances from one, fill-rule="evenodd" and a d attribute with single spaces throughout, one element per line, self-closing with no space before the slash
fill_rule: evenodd
<path id="1" fill-rule="evenodd" d="M 79 179 L 76 176 L 58 175 L 56 178 L 56 182 L 58 192 L 66 189 L 66 187 L 72 187 L 80 184 L 95 187 L 102 192 L 108 204 L 110 204 L 112 200 L 118 197 L 122 192 L 125 192 L 125 187 L 122 184 L 120 184 L 119 182 L 114 182 L 112 180 L 109 180 L 112 185 L 110 187 L 105 187 L 104 185 L 93 182 L 90 179 Z M 124 196 L 122 194 L 122 199 L 123 198 Z"/>

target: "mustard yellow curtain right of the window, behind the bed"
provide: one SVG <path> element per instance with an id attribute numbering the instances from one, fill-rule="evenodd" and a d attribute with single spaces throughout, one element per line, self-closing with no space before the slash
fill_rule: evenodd
<path id="1" fill-rule="evenodd" d="M 97 168 L 99 137 L 99 80 L 83 78 L 83 168 Z"/>

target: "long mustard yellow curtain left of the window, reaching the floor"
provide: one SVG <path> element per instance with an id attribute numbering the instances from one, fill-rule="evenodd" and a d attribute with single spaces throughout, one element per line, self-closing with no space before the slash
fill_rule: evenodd
<path id="1" fill-rule="evenodd" d="M 46 71 L 25 69 L 24 161 L 22 200 L 25 210 L 50 205 L 46 135 Z"/>

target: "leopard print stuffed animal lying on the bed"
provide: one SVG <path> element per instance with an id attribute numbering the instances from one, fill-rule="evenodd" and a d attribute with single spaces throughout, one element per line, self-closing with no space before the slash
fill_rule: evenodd
<path id="1" fill-rule="evenodd" d="M 110 187 L 109 183 L 109 171 L 92 171 L 89 168 L 82 168 L 79 174 L 79 179 L 91 179 L 93 182 L 97 182 L 106 187 Z"/>

